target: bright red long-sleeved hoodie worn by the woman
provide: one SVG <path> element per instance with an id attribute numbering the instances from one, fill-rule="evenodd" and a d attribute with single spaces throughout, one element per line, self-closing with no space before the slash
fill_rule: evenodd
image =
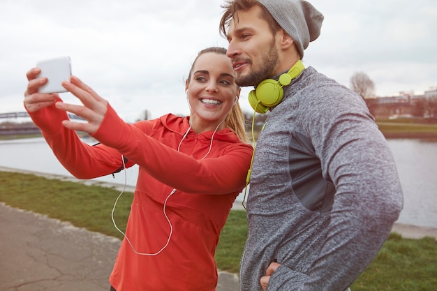
<path id="1" fill-rule="evenodd" d="M 126 227 L 135 251 L 150 254 L 165 246 L 170 225 L 163 204 L 177 189 L 165 208 L 172 223 L 170 243 L 158 255 L 138 255 L 124 239 L 110 276 L 117 291 L 215 290 L 214 253 L 232 203 L 245 185 L 249 144 L 224 129 L 214 134 L 209 151 L 212 131 L 190 130 L 183 139 L 187 118 L 167 114 L 131 125 L 108 105 L 93 135 L 101 144 L 91 147 L 61 125 L 66 112 L 51 106 L 29 113 L 62 165 L 79 179 L 111 174 L 121 167 L 121 154 L 128 158 L 126 167 L 139 165 Z"/>

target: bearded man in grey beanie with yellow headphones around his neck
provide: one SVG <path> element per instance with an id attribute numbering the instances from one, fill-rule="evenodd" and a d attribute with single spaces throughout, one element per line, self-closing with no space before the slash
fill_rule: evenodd
<path id="1" fill-rule="evenodd" d="M 391 151 L 360 96 L 303 67 L 323 22 L 309 2 L 223 8 L 237 84 L 255 86 L 251 105 L 270 110 L 253 159 L 240 290 L 348 290 L 402 209 Z"/>

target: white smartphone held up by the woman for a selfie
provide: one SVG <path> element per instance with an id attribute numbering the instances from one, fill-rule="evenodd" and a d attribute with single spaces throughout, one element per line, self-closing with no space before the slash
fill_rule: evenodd
<path id="1" fill-rule="evenodd" d="M 47 78 L 47 83 L 38 89 L 39 93 L 61 93 L 67 91 L 64 87 L 62 87 L 61 83 L 70 79 L 70 57 L 58 57 L 55 59 L 38 61 L 36 66 L 41 70 L 41 73 L 38 75 L 38 77 Z"/>

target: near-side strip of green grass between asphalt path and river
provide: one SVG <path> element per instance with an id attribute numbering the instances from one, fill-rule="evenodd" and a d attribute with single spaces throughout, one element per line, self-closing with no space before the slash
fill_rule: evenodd
<path id="1" fill-rule="evenodd" d="M 117 195 L 119 191 L 112 188 L 0 172 L 1 202 L 121 239 L 110 218 Z M 126 225 L 132 197 L 132 193 L 125 193 L 117 204 L 115 216 L 121 229 Z M 218 269 L 237 273 L 246 230 L 246 213 L 231 211 L 216 251 Z M 352 290 L 435 290 L 436 274 L 437 241 L 434 238 L 403 239 L 399 234 L 391 234 Z"/>

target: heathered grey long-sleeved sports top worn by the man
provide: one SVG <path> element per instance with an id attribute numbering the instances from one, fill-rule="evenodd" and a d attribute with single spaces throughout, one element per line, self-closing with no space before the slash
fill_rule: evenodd
<path id="1" fill-rule="evenodd" d="M 269 112 L 247 200 L 240 290 L 342 291 L 368 266 L 402 209 L 397 168 L 355 92 L 306 68 Z"/>

